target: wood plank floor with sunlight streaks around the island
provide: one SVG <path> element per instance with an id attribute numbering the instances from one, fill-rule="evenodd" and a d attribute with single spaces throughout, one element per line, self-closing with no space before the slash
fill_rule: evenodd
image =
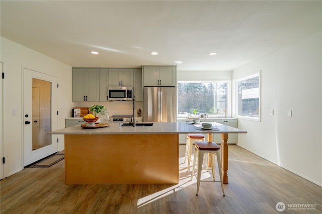
<path id="1" fill-rule="evenodd" d="M 180 163 L 184 145 L 180 145 Z M 192 165 L 192 164 L 191 164 Z M 157 167 L 157 166 L 156 166 Z M 116 176 L 116 175 L 115 175 Z M 203 170 L 203 177 L 210 174 Z M 190 181 L 180 164 L 177 185 L 65 185 L 64 160 L 25 168 L 1 181 L 1 213 L 321 213 L 322 187 L 259 156 L 229 145 L 229 184 Z M 277 202 L 286 209 L 278 212 Z M 291 210 L 288 204 L 316 204 Z M 294 206 L 294 205 L 292 205 Z M 294 207 L 293 207 L 294 208 Z"/>

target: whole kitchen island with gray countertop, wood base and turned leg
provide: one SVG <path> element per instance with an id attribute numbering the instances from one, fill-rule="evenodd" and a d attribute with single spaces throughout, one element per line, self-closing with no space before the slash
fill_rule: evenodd
<path id="1" fill-rule="evenodd" d="M 120 127 L 111 123 L 95 129 L 77 125 L 50 134 L 65 135 L 65 184 L 177 184 L 179 134 L 222 133 L 222 171 L 227 183 L 228 133 L 247 132 L 212 124 L 219 131 L 200 130 L 200 125 L 176 122 L 153 123 L 147 127 Z"/>

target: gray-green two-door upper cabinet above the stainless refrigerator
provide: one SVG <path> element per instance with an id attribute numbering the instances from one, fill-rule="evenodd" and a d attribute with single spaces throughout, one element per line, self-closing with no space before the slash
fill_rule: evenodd
<path id="1" fill-rule="evenodd" d="M 176 86 L 176 66 L 143 66 L 143 86 Z"/>

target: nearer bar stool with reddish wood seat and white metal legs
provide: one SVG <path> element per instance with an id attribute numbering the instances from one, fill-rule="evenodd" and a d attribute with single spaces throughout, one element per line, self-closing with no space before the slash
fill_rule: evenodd
<path id="1" fill-rule="evenodd" d="M 211 159 L 211 167 L 212 167 L 213 177 L 214 177 L 214 167 L 215 167 L 214 154 L 217 155 L 217 162 L 218 162 L 221 190 L 222 190 L 222 195 L 225 196 L 225 192 L 223 190 L 223 185 L 222 185 L 220 147 L 215 142 L 211 142 L 211 141 L 208 141 L 208 142 L 207 141 L 196 141 L 195 144 L 196 144 L 195 145 L 195 155 L 194 155 L 194 158 L 193 158 L 193 168 L 192 168 L 192 171 L 191 171 L 191 180 L 192 180 L 193 175 L 194 175 L 196 158 L 198 156 L 197 193 L 196 193 L 196 195 L 198 195 L 198 192 L 199 192 L 203 156 L 204 156 L 205 153 L 209 153 L 210 154 L 209 156 L 210 156 L 210 159 Z M 218 182 L 218 181 L 213 179 L 212 182 Z"/>

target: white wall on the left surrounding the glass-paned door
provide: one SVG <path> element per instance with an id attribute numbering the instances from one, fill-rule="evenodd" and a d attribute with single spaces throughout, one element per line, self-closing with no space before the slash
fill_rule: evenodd
<path id="1" fill-rule="evenodd" d="M 39 54 L 31 49 L 1 37 L 1 59 L 4 63 L 4 176 L 23 169 L 23 108 L 21 67 L 58 77 L 58 128 L 64 128 L 64 118 L 69 117 L 71 102 L 71 67 Z M 17 116 L 12 116 L 12 110 Z M 59 137 L 58 149 L 63 149 L 63 135 Z"/>

